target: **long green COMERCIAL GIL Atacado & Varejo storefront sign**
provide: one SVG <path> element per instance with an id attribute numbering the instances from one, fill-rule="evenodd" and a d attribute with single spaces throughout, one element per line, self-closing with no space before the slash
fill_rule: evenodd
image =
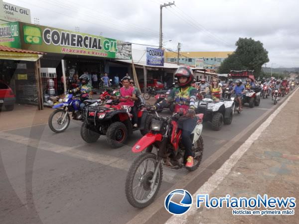
<path id="1" fill-rule="evenodd" d="M 46 26 L 21 23 L 22 49 L 132 59 L 132 45 L 120 40 Z"/>

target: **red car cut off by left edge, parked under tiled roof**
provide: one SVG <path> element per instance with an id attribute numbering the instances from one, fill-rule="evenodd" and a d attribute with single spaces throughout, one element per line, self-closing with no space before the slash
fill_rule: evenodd
<path id="1" fill-rule="evenodd" d="M 7 84 L 0 81 L 0 109 L 5 107 L 6 111 L 12 111 L 15 103 L 15 95 Z"/>

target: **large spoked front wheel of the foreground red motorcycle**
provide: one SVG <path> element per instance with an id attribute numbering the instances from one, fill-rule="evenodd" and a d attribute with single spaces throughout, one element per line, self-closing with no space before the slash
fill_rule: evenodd
<path id="1" fill-rule="evenodd" d="M 125 190 L 127 200 L 133 207 L 145 208 L 149 206 L 158 193 L 163 176 L 161 163 L 153 188 L 150 189 L 150 181 L 156 164 L 156 155 L 153 153 L 143 153 L 132 163 L 128 171 Z"/>

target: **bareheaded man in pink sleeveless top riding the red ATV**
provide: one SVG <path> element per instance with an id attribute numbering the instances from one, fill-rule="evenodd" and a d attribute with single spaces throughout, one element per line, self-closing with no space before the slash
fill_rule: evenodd
<path id="1" fill-rule="evenodd" d="M 127 106 L 128 108 L 134 108 L 134 101 L 137 101 L 136 90 L 134 87 L 130 86 L 130 79 L 128 77 L 123 78 L 123 87 L 120 89 L 120 105 Z M 117 99 L 118 97 L 110 96 L 111 99 Z M 138 127 L 137 121 L 137 111 L 131 110 L 133 114 L 133 127 Z"/>

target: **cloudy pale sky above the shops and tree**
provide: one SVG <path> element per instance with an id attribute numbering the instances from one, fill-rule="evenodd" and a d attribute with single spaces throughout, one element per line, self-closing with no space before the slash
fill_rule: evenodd
<path id="1" fill-rule="evenodd" d="M 4 0 L 40 25 L 158 45 L 162 0 Z M 298 0 L 175 0 L 163 8 L 163 44 L 176 51 L 234 51 L 239 37 L 264 43 L 267 67 L 299 67 Z M 135 48 L 145 46 L 133 45 Z"/>

